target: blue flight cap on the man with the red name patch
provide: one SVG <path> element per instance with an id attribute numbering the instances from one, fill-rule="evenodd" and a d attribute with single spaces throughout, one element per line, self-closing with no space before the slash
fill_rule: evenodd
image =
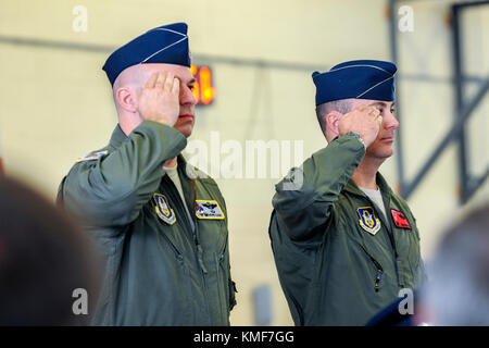
<path id="1" fill-rule="evenodd" d="M 348 98 L 394 100 L 393 63 L 360 60 L 333 66 L 328 72 L 314 72 L 316 107 L 318 104 Z"/>

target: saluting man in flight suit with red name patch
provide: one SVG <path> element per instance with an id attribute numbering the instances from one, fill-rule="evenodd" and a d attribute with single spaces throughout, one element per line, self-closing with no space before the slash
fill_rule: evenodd
<path id="1" fill-rule="evenodd" d="M 328 145 L 276 185 L 269 237 L 296 325 L 365 325 L 424 276 L 406 202 L 378 172 L 392 156 L 390 62 L 313 73 Z"/>

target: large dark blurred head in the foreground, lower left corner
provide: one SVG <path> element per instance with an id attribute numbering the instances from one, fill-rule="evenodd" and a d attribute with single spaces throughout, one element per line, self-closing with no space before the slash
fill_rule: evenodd
<path id="1" fill-rule="evenodd" d="M 88 324 L 99 282 L 92 247 L 42 195 L 0 177 L 0 326 Z"/>

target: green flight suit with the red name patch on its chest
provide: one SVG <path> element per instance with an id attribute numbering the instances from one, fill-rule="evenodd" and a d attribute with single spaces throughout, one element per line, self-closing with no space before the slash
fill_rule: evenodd
<path id="1" fill-rule="evenodd" d="M 364 156 L 359 139 L 342 136 L 276 185 L 268 233 L 296 325 L 365 325 L 424 276 L 405 201 L 377 174 L 387 222 L 351 179 Z M 302 173 L 299 189 L 287 187 Z"/>

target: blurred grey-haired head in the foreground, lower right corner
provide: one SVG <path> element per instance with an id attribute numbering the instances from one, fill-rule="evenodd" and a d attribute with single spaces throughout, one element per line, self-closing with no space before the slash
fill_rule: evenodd
<path id="1" fill-rule="evenodd" d="M 489 203 L 454 224 L 426 266 L 415 325 L 489 326 Z"/>

